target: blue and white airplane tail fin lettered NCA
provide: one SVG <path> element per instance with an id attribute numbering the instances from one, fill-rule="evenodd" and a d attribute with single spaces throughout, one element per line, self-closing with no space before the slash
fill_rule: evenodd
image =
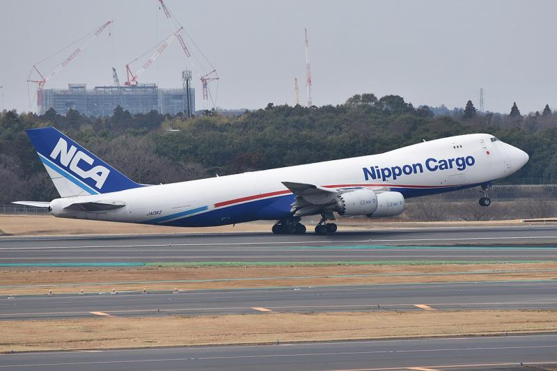
<path id="1" fill-rule="evenodd" d="M 54 127 L 26 130 L 61 197 L 143 187 Z"/>

